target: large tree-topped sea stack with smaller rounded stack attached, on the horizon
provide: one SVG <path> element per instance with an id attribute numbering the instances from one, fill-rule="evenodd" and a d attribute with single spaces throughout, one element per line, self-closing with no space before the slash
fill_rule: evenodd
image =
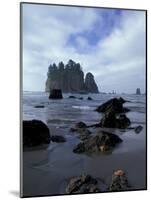
<path id="1" fill-rule="evenodd" d="M 81 65 L 69 60 L 66 65 L 60 62 L 49 66 L 46 81 L 46 92 L 53 89 L 61 89 L 64 93 L 98 93 L 92 73 L 84 73 Z"/>

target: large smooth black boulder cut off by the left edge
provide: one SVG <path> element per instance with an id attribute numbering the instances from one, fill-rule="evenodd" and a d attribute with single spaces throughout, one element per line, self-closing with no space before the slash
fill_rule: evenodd
<path id="1" fill-rule="evenodd" d="M 42 121 L 23 121 L 23 147 L 50 143 L 49 128 Z"/>

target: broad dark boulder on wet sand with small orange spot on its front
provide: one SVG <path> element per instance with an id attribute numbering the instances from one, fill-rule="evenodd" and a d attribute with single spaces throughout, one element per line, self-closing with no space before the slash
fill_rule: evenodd
<path id="1" fill-rule="evenodd" d="M 80 142 L 74 149 L 74 153 L 105 152 L 114 148 L 122 140 L 115 134 L 101 131 L 95 136 L 89 136 L 87 140 Z"/>

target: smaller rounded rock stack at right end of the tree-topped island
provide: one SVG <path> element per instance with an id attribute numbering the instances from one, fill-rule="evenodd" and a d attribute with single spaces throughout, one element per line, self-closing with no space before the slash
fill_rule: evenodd
<path id="1" fill-rule="evenodd" d="M 90 93 L 98 93 L 99 92 L 97 84 L 94 80 L 94 76 L 90 72 L 86 74 L 85 87 L 86 87 L 86 90 Z"/>

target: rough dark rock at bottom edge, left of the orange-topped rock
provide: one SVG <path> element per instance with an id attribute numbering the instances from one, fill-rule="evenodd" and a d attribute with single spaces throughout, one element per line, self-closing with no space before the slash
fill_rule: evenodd
<path id="1" fill-rule="evenodd" d="M 86 194 L 100 192 L 97 187 L 97 180 L 90 175 L 73 177 L 66 188 L 67 194 Z"/>

